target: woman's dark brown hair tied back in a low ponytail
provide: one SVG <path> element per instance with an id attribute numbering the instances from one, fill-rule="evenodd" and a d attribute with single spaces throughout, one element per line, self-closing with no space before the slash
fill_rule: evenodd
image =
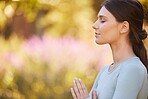
<path id="1" fill-rule="evenodd" d="M 147 33 L 143 30 L 144 10 L 138 0 L 106 0 L 104 6 L 118 22 L 128 21 L 130 25 L 129 40 L 134 53 L 148 70 L 146 48 L 143 40 Z"/>

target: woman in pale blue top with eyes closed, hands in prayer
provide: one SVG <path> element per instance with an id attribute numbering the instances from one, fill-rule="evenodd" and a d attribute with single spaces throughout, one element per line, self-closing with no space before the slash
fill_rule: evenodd
<path id="1" fill-rule="evenodd" d="M 97 44 L 109 44 L 114 63 L 97 75 L 88 94 L 80 79 L 74 80 L 74 99 L 147 99 L 147 53 L 142 29 L 144 11 L 138 0 L 106 0 L 93 24 Z"/>

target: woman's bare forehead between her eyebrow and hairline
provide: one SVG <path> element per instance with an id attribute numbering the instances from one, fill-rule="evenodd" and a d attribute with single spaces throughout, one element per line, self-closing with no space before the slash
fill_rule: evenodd
<path id="1" fill-rule="evenodd" d="M 103 6 L 99 13 L 98 13 L 98 17 L 105 17 L 108 19 L 115 19 L 115 17 Z"/>

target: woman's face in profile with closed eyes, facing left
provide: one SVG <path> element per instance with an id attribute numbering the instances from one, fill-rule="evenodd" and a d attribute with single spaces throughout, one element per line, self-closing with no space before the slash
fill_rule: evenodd
<path id="1" fill-rule="evenodd" d="M 99 13 L 98 19 L 93 24 L 97 44 L 111 44 L 119 40 L 120 23 L 115 17 L 103 6 Z"/>

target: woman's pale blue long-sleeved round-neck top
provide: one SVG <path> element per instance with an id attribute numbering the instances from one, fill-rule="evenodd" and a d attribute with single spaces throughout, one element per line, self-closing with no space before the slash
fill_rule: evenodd
<path id="1" fill-rule="evenodd" d="M 90 91 L 97 91 L 98 99 L 147 99 L 147 70 L 138 57 L 120 63 L 112 71 L 105 66 L 97 75 Z"/>

